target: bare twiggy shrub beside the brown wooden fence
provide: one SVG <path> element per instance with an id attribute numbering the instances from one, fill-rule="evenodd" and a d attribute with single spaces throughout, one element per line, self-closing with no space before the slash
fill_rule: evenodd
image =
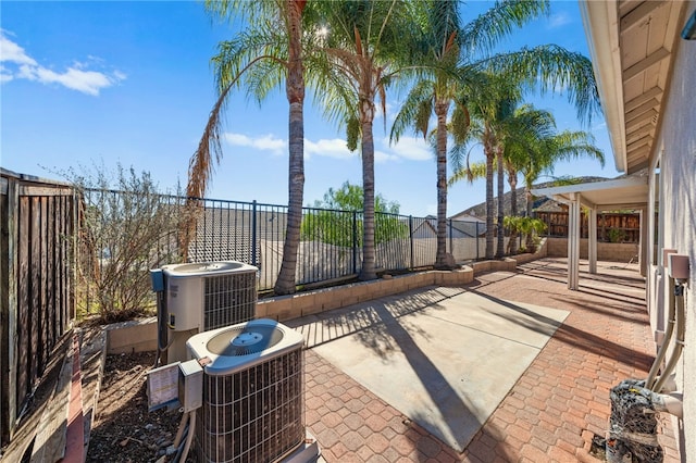
<path id="1" fill-rule="evenodd" d="M 177 229 L 185 209 L 177 197 L 159 193 L 149 173 L 133 167 L 119 164 L 111 174 L 96 166 L 65 176 L 82 196 L 78 308 L 102 323 L 146 314 L 153 302 L 149 271 L 181 261 Z"/>

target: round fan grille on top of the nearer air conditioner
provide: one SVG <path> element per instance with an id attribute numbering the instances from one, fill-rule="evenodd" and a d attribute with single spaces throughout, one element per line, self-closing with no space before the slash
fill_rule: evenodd
<path id="1" fill-rule="evenodd" d="M 239 356 L 262 352 L 283 340 L 283 330 L 275 326 L 238 326 L 213 336 L 206 346 L 216 355 Z"/>

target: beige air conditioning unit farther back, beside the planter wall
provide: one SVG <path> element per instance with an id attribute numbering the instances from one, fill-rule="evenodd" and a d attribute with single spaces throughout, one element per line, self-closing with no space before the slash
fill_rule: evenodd
<path id="1" fill-rule="evenodd" d="M 258 268 L 222 261 L 164 265 L 167 360 L 186 360 L 186 340 L 196 333 L 256 317 Z"/>

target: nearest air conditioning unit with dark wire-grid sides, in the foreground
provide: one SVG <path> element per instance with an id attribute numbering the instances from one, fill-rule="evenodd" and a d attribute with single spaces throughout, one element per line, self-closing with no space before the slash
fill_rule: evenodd
<path id="1" fill-rule="evenodd" d="M 186 345 L 203 365 L 196 420 L 199 461 L 319 455 L 315 443 L 306 449 L 302 335 L 261 318 L 198 334 Z"/>

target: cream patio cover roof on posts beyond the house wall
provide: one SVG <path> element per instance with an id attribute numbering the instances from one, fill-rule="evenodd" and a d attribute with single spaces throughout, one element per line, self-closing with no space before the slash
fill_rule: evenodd
<path id="1" fill-rule="evenodd" d="M 576 199 L 581 204 L 598 211 L 643 209 L 648 202 L 648 179 L 646 176 L 624 177 L 607 182 L 537 188 L 532 189 L 532 195 L 545 196 L 563 203 Z"/>

